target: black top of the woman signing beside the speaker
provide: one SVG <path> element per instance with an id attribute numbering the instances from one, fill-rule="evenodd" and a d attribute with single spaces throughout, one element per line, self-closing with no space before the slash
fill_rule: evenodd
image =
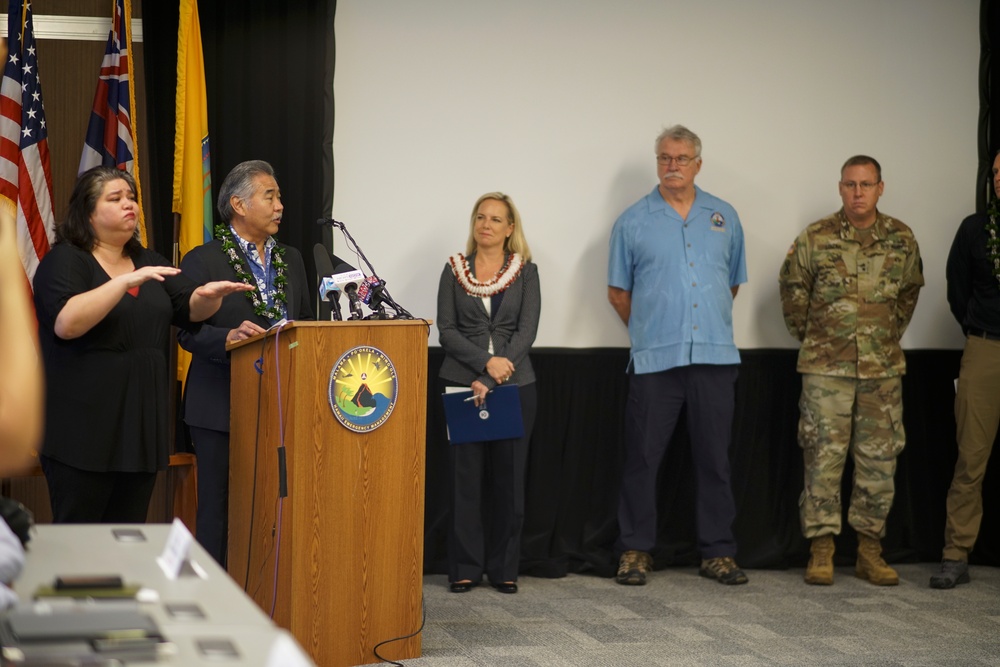
<path id="1" fill-rule="evenodd" d="M 151 250 L 133 263 L 170 266 Z M 55 335 L 56 317 L 70 298 L 108 282 L 89 252 L 58 243 L 35 273 L 38 336 L 45 362 L 45 439 L 42 454 L 96 472 L 154 472 L 169 458 L 167 355 L 171 323 L 189 320 L 184 276 L 147 280 L 138 296 L 125 294 L 103 320 L 72 340 Z"/>

